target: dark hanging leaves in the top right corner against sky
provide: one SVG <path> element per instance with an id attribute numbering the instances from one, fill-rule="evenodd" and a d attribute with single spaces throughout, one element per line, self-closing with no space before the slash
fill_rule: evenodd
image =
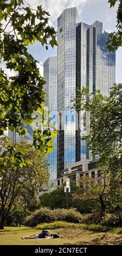
<path id="1" fill-rule="evenodd" d="M 121 0 L 108 0 L 110 8 L 114 7 L 115 3 L 118 3 L 117 10 L 117 31 L 108 35 L 107 47 L 109 51 L 115 51 L 122 46 L 122 2 Z"/>

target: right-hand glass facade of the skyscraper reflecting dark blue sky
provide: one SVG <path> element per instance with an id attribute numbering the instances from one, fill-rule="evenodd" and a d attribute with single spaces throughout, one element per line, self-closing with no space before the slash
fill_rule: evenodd
<path id="1" fill-rule="evenodd" d="M 106 47 L 108 33 L 95 21 L 87 30 L 87 85 L 90 93 L 100 89 L 108 96 L 115 82 L 115 52 Z"/>

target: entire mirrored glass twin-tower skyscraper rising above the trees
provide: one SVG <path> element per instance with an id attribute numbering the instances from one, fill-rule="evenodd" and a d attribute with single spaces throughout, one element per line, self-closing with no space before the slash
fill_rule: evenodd
<path id="1" fill-rule="evenodd" d="M 80 22 L 76 7 L 65 9 L 57 19 L 57 56 L 44 62 L 46 107 L 59 132 L 55 150 L 47 157 L 50 183 L 55 184 L 69 164 L 89 157 L 86 142 L 81 140 L 81 119 L 70 109 L 70 99 L 76 97 L 76 88 L 86 86 L 90 93 L 100 89 L 103 95 L 110 94 L 115 83 L 115 52 L 108 52 L 107 37 L 101 22 Z"/>

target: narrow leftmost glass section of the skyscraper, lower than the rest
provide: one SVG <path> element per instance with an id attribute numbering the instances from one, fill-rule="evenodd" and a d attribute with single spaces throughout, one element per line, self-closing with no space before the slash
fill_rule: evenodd
<path id="1" fill-rule="evenodd" d="M 46 93 L 45 106 L 48 108 L 50 115 L 49 119 L 57 126 L 57 57 L 50 57 L 43 64 L 44 79 L 44 92 Z M 53 186 L 44 187 L 44 190 L 50 191 L 55 187 L 55 180 L 57 176 L 57 137 L 54 138 L 54 150 L 52 154 L 48 153 L 47 157 L 44 157 L 46 162 L 49 162 L 47 167 L 50 178 L 48 184 Z"/>

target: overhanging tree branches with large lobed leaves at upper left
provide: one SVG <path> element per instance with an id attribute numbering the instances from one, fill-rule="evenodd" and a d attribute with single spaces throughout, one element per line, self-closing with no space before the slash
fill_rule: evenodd
<path id="1" fill-rule="evenodd" d="M 41 5 L 31 9 L 23 0 L 0 1 L 0 135 L 10 129 L 24 136 L 27 133 L 24 125 L 31 125 L 32 114 L 36 111 L 42 114 L 42 125 L 45 124 L 45 81 L 27 46 L 35 41 L 42 46 L 57 45 L 56 32 L 48 25 L 48 16 Z M 15 75 L 12 76 L 11 71 Z M 55 135 L 56 131 L 49 126 L 45 130 L 36 129 L 33 135 L 35 148 L 43 155 L 52 151 Z"/>

